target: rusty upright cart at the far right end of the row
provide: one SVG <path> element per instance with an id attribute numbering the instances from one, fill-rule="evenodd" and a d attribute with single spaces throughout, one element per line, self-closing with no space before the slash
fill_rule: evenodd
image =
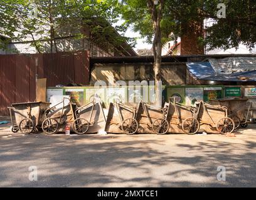
<path id="1" fill-rule="evenodd" d="M 240 125 L 243 127 L 247 119 L 245 117 L 245 109 L 247 108 L 248 99 L 220 99 L 220 100 L 210 100 L 210 104 L 213 106 L 225 106 L 228 108 L 228 118 L 233 119 L 235 123 L 235 128 Z M 250 107 L 248 107 L 248 110 Z M 247 111 L 248 113 L 248 111 Z"/>

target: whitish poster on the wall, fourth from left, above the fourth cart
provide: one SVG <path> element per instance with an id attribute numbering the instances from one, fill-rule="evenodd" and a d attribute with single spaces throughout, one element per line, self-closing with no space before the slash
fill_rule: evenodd
<path id="1" fill-rule="evenodd" d="M 107 88 L 107 103 L 115 103 L 116 99 L 125 103 L 125 88 Z"/>

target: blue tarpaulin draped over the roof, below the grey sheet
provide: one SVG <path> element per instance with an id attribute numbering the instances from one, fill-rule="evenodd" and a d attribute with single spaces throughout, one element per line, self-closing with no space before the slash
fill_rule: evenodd
<path id="1" fill-rule="evenodd" d="M 256 81 L 256 71 L 242 73 L 217 73 L 209 62 L 186 63 L 189 72 L 199 80 L 209 81 Z"/>

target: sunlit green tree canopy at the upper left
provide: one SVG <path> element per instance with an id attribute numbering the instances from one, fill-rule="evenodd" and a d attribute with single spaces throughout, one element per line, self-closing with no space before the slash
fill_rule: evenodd
<path id="1" fill-rule="evenodd" d="M 119 36 L 125 27 L 114 26 L 119 12 L 106 1 L 99 0 L 2 0 L 0 2 L 0 34 L 13 41 L 31 39 L 38 53 L 43 53 L 45 42 L 51 52 L 58 51 L 56 39 L 74 36 L 89 37 L 102 46 L 132 41 Z M 85 34 L 83 29 L 89 29 Z"/>

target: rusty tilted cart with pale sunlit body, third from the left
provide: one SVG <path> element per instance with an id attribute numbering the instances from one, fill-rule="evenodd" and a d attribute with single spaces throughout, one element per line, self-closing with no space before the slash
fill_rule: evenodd
<path id="1" fill-rule="evenodd" d="M 90 103 L 76 109 L 72 128 L 77 134 L 97 133 L 101 129 L 104 130 L 105 125 L 106 118 L 102 101 L 93 97 Z"/>

